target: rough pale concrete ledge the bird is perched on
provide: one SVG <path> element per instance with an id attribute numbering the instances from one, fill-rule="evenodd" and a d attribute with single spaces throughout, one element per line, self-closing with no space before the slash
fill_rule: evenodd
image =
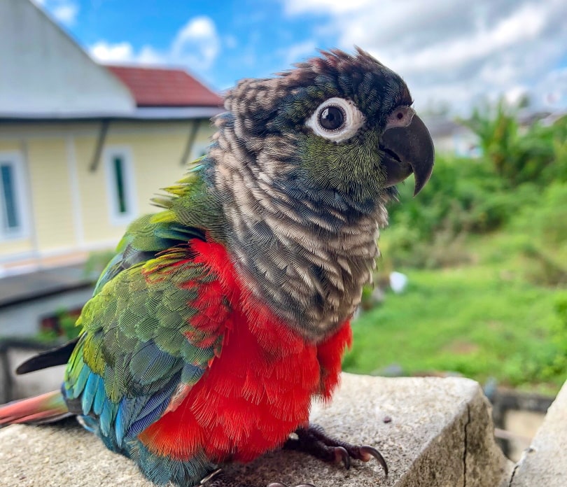
<path id="1" fill-rule="evenodd" d="M 311 419 L 341 439 L 377 447 L 390 467 L 388 478 L 372 461 L 353 462 L 347 471 L 289 451 L 232 465 L 228 472 L 258 487 L 270 481 L 317 487 L 498 487 L 510 478 L 511 464 L 493 442 L 489 405 L 468 379 L 344 374 L 332 405 L 315 404 Z M 106 451 L 73 422 L 1 430 L 0 485 L 151 487 L 130 460 Z"/>

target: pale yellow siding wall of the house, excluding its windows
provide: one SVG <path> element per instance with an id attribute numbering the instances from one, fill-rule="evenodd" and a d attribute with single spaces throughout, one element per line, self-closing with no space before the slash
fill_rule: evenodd
<path id="1" fill-rule="evenodd" d="M 111 122 L 104 146 L 130 148 L 139 213 L 157 211 L 149 199 L 184 173 L 181 156 L 191 121 Z M 113 225 L 104 158 L 90 170 L 100 131 L 99 122 L 4 125 L 0 151 L 22 153 L 34 228 L 20 241 L 0 241 L 0 262 L 109 248 L 126 224 Z M 207 143 L 211 127 L 201 122 L 195 145 Z M 73 188 L 78 188 L 73 190 Z M 35 237 L 35 238 L 34 238 Z"/>

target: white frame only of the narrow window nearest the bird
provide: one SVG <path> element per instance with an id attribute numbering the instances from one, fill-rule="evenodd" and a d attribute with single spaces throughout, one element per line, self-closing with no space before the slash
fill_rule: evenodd
<path id="1" fill-rule="evenodd" d="M 117 181 L 114 171 L 114 158 L 123 160 L 123 189 L 126 209 L 120 212 L 120 202 L 117 195 Z M 123 226 L 130 223 L 138 215 L 136 197 L 136 180 L 134 178 L 134 162 L 132 149 L 128 146 L 109 146 L 104 149 L 104 171 L 106 173 L 106 195 L 111 225 Z"/>

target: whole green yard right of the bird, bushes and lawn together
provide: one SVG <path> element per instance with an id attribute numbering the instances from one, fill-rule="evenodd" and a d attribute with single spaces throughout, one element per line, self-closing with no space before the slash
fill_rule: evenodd
<path id="1" fill-rule="evenodd" d="M 567 118 L 519 127 L 503 106 L 484 118 L 482 157 L 437 157 L 416 198 L 400 185 L 379 268 L 409 285 L 356 320 L 346 369 L 396 364 L 541 390 L 565 381 Z"/>

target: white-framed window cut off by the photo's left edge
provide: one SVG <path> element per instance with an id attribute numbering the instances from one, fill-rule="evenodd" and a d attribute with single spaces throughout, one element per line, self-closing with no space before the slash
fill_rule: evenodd
<path id="1" fill-rule="evenodd" d="M 26 231 L 22 159 L 0 153 L 0 240 L 23 237 Z"/>

